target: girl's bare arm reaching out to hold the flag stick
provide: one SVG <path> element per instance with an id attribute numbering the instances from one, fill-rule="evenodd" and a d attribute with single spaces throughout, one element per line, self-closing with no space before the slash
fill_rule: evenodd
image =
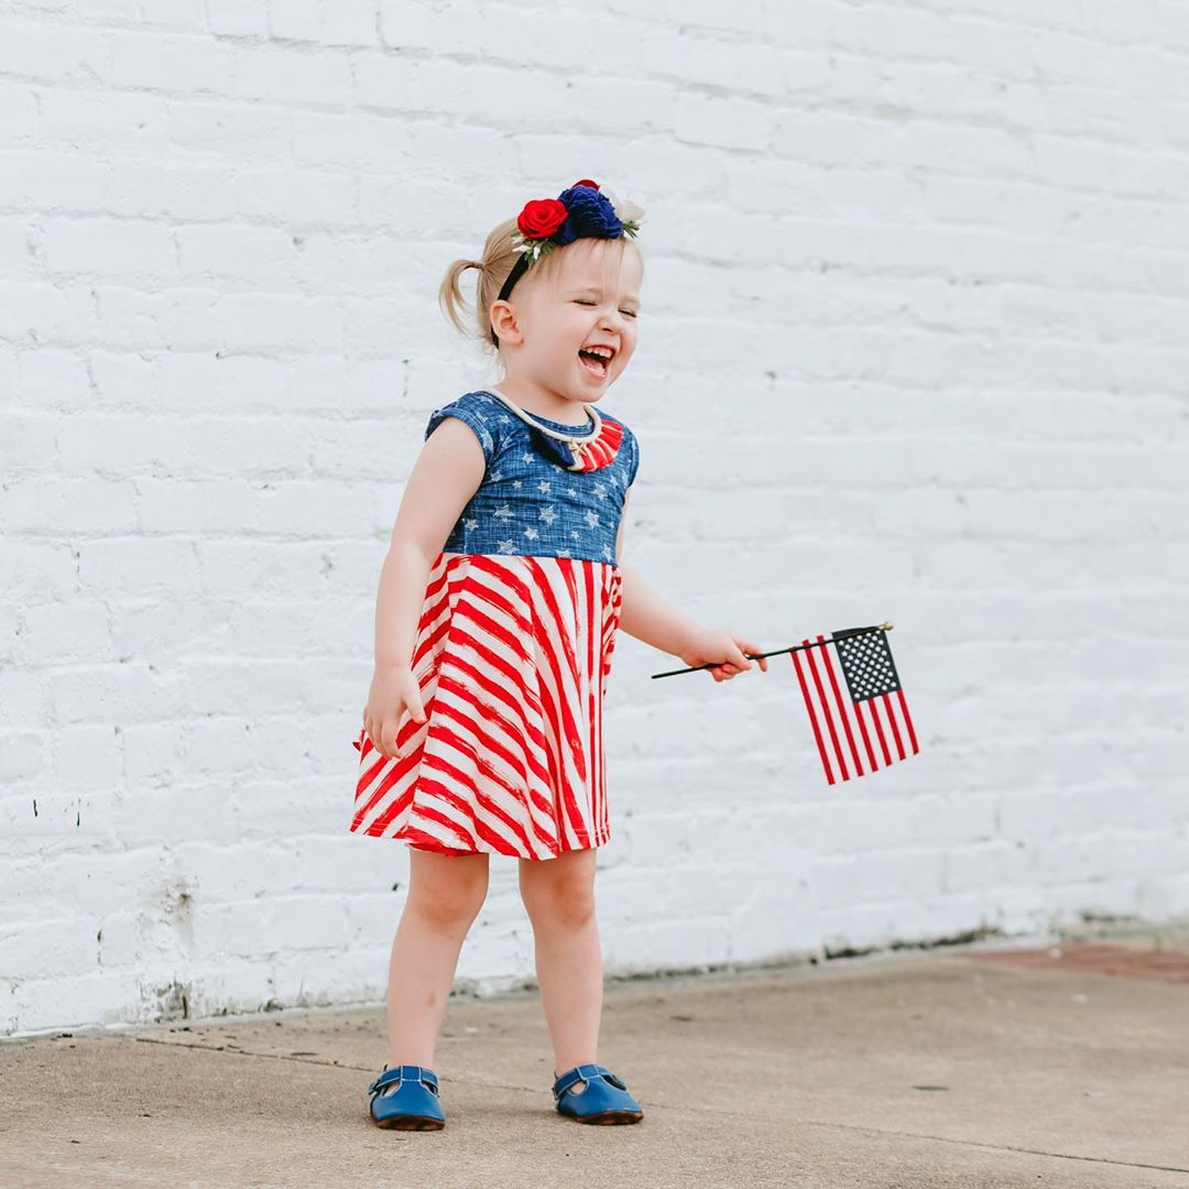
<path id="1" fill-rule="evenodd" d="M 680 656 L 692 667 L 722 662 L 715 663 L 715 668 L 709 671 L 716 681 L 751 668 L 751 661 L 743 652 L 759 653 L 762 649 L 757 644 L 725 629 L 698 627 L 666 603 L 631 566 L 623 562 L 623 528 L 628 522 L 630 496 L 629 487 L 624 492 L 623 515 L 619 517 L 619 531 L 615 541 L 615 555 L 622 578 L 619 627 L 629 636 Z M 768 672 L 767 658 L 760 660 L 760 668 Z"/>

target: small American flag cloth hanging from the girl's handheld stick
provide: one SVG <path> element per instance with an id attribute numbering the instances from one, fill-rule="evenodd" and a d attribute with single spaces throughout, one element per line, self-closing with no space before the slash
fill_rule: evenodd
<path id="1" fill-rule="evenodd" d="M 916 755 L 917 734 L 882 628 L 845 628 L 809 638 L 789 655 L 832 785 Z M 845 692 L 844 692 L 845 691 Z"/>

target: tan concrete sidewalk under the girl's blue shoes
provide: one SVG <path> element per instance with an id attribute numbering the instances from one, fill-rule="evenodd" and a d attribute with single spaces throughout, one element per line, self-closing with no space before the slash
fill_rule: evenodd
<path id="1" fill-rule="evenodd" d="M 451 1002 L 440 1132 L 369 1122 L 375 1009 L 12 1040 L 0 1184 L 1189 1187 L 1189 962 L 1144 950 L 612 982 L 625 1127 L 556 1114 L 535 994 Z"/>

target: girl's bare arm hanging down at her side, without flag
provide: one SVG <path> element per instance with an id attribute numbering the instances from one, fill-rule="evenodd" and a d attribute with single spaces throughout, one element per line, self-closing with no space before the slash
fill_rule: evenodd
<path id="1" fill-rule="evenodd" d="M 486 463 L 474 430 L 445 417 L 429 435 L 413 466 L 392 524 L 376 594 L 376 672 L 364 725 L 380 754 L 400 753 L 396 736 L 408 711 L 424 721 L 413 677 L 413 649 L 434 561 L 451 529 L 483 482 Z"/>

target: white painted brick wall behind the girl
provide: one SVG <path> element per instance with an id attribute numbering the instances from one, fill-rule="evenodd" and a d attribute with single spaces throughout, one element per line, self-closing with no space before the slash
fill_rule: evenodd
<path id="1" fill-rule="evenodd" d="M 1189 8 L 0 10 L 0 1031 L 377 1000 L 347 833 L 447 263 L 648 210 L 627 558 L 766 647 L 882 618 L 923 754 L 792 666 L 608 709 L 609 970 L 1189 912 Z M 510 860 L 459 977 L 531 976 Z"/>

